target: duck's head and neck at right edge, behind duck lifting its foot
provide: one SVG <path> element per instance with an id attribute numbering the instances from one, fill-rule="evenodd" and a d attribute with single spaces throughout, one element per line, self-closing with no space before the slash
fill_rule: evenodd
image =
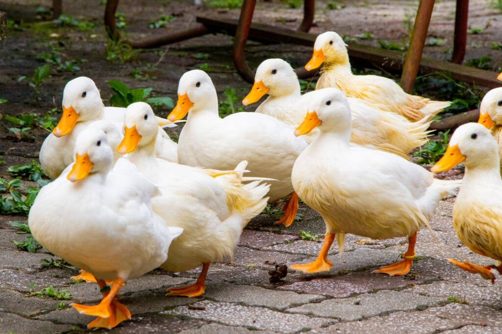
<path id="1" fill-rule="evenodd" d="M 498 144 L 498 156 L 502 156 L 502 87 L 494 88 L 484 95 L 479 105 L 477 122 L 491 129 L 491 134 Z M 500 173 L 502 174 L 502 168 Z"/>

